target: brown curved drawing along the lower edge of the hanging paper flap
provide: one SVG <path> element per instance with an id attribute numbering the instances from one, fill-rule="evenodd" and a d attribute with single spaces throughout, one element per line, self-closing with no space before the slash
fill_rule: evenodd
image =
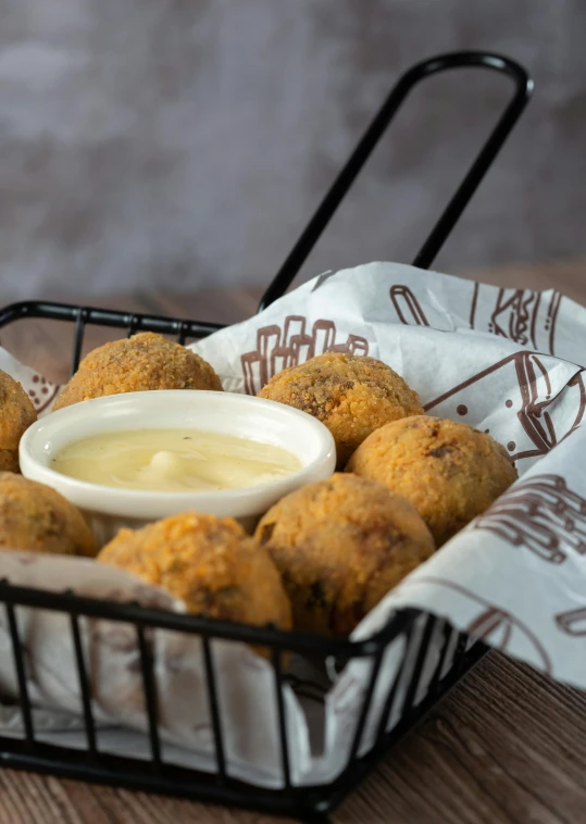
<path id="1" fill-rule="evenodd" d="M 449 589 L 460 598 L 477 607 L 477 614 L 463 628 L 466 635 L 472 636 L 477 641 L 489 644 L 504 654 L 513 656 L 514 651 L 512 647 L 515 640 L 521 641 L 523 639 L 522 642 L 524 645 L 528 644 L 534 652 L 536 659 L 534 664 L 540 665 L 546 675 L 551 675 L 551 660 L 546 649 L 531 627 L 515 617 L 515 615 L 481 598 L 475 592 L 471 592 L 466 587 L 447 578 L 427 575 L 417 578 L 417 583 L 433 584 L 436 587 Z"/>

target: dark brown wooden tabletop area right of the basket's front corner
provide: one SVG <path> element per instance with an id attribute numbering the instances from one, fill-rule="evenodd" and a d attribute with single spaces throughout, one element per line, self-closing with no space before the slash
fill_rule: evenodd
<path id="1" fill-rule="evenodd" d="M 586 695 L 491 653 L 334 817 L 570 824 L 585 763 Z"/>

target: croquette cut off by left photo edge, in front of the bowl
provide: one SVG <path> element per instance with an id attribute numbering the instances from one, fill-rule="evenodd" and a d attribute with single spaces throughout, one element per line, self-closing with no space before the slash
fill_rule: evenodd
<path id="1" fill-rule="evenodd" d="M 58 491 L 0 472 L 0 549 L 92 558 L 98 545 L 79 510 Z"/>

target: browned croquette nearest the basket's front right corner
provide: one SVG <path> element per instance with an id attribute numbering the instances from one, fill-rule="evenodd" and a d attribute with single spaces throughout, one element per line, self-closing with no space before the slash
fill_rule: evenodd
<path id="1" fill-rule="evenodd" d="M 349 474 L 282 498 L 254 537 L 280 573 L 295 628 L 334 637 L 351 633 L 435 549 L 408 500 Z"/>

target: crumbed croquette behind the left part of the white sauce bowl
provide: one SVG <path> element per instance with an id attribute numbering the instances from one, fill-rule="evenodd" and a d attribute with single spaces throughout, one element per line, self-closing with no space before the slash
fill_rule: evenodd
<path id="1" fill-rule="evenodd" d="M 199 354 L 162 335 L 142 332 L 90 352 L 61 391 L 53 409 L 104 395 L 149 389 L 212 389 L 220 378 Z"/>

